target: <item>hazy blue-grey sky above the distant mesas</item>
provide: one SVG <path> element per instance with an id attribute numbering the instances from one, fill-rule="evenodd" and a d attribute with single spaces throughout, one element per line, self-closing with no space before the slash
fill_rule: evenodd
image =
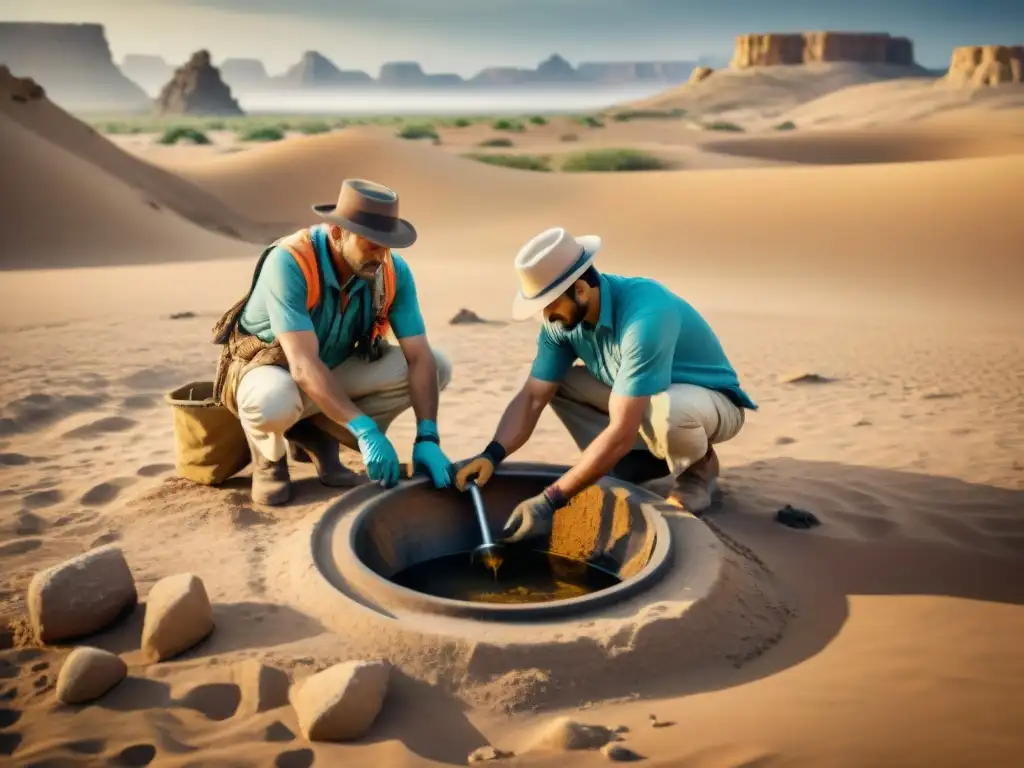
<path id="1" fill-rule="evenodd" d="M 728 55 L 737 34 L 820 29 L 905 35 L 921 63 L 944 67 L 956 45 L 1024 39 L 1024 0 L 0 0 L 0 19 L 102 24 L 118 60 L 208 48 L 271 74 L 307 49 L 374 75 L 403 59 L 472 75 L 555 51 L 573 63 Z"/>

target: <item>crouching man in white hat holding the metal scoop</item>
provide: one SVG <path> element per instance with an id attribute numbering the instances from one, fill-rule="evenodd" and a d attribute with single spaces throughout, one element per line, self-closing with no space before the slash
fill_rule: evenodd
<path id="1" fill-rule="evenodd" d="M 658 464 L 653 476 L 674 477 L 670 501 L 699 514 L 716 490 L 714 445 L 739 432 L 744 409 L 757 410 L 696 309 L 652 280 L 598 272 L 600 248 L 600 238 L 556 227 L 516 256 L 520 291 L 512 313 L 526 319 L 543 312 L 537 356 L 494 440 L 462 464 L 456 485 L 486 484 L 529 439 L 549 403 L 583 457 L 515 508 L 505 525 L 508 542 L 546 536 L 556 510 L 603 475 L 637 463 L 631 459 Z"/>

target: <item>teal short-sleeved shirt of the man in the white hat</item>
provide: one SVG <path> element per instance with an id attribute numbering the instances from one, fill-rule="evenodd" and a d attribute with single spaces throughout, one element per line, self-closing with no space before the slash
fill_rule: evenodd
<path id="1" fill-rule="evenodd" d="M 545 323 L 530 376 L 559 382 L 579 358 L 615 394 L 643 397 L 694 384 L 757 411 L 715 332 L 688 302 L 647 278 L 601 273 L 600 287 L 597 326 L 566 332 Z"/>

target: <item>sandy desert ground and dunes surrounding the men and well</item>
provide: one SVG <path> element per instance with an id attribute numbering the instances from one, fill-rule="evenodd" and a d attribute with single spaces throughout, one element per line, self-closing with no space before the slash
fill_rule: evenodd
<path id="1" fill-rule="evenodd" d="M 271 567 L 333 495 L 307 466 L 278 509 L 253 508 L 245 477 L 218 489 L 176 479 L 161 398 L 211 376 L 209 329 L 245 291 L 255 244 L 309 223 L 311 203 L 364 175 L 398 188 L 421 231 L 407 256 L 430 337 L 455 364 L 439 418 L 453 458 L 485 444 L 528 369 L 537 326 L 505 322 L 511 259 L 555 223 L 602 234 L 600 266 L 693 301 L 761 406 L 721 447 L 725 496 L 710 519 L 787 590 L 797 613 L 784 636 L 738 669 L 683 671 L 671 695 L 637 680 L 633 700 L 574 717 L 628 726 L 626 743 L 652 766 L 1020 764 L 1020 124 L 992 128 L 979 110 L 941 130 L 867 131 L 857 121 L 870 102 L 848 103 L 827 130 L 702 137 L 713 146 L 658 138 L 667 123 L 621 124 L 606 130 L 648 131 L 644 141 L 709 165 L 569 176 L 487 167 L 376 128 L 219 157 L 141 143 L 133 155 L 46 103 L 4 101 L 0 139 L 17 152 L 0 171 L 0 616 L 23 613 L 39 568 L 118 542 L 143 601 L 162 577 L 199 574 L 217 629 L 155 666 L 137 656 L 140 610 L 90 638 L 122 653 L 132 677 L 83 708 L 54 700 L 68 648 L 0 651 L 0 756 L 458 765 L 484 743 L 517 750 L 550 718 L 467 710 L 411 680 L 354 743 L 305 742 L 289 707 L 245 713 L 241 660 L 297 678 L 336 660 L 335 636 Z M 447 325 L 461 307 L 495 323 Z M 829 381 L 782 383 L 801 371 Z M 392 429 L 402 456 L 413 426 L 407 414 Z M 517 458 L 578 454 L 545 414 Z M 778 525 L 785 504 L 822 525 Z M 651 728 L 650 714 L 672 725 Z"/>

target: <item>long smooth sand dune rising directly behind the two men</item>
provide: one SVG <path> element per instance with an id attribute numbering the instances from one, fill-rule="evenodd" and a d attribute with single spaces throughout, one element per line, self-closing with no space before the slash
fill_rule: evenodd
<path id="1" fill-rule="evenodd" d="M 821 152 L 812 137 L 806 146 L 803 136 L 790 140 L 805 158 Z M 941 156 L 935 141 L 931 151 Z M 899 156 L 910 145 L 890 137 L 868 148 Z M 600 232 L 608 245 L 602 261 L 611 268 L 658 275 L 683 268 L 693 276 L 834 288 L 852 281 L 874 290 L 881 280 L 880 303 L 900 293 L 1013 301 L 1017 290 L 1008 280 L 1024 275 L 1018 258 L 1024 222 L 1012 214 L 1011 191 L 1024 178 L 1020 156 L 877 167 L 538 174 L 346 130 L 178 170 L 237 211 L 286 229 L 307 223 L 308 205 L 331 200 L 338 178 L 371 175 L 401 190 L 403 211 L 422 231 L 418 253 L 431 259 L 500 263 L 534 231 L 560 221 Z M 941 210 L 958 214 L 951 219 Z M 642 262 L 637 254 L 644 254 Z"/>

